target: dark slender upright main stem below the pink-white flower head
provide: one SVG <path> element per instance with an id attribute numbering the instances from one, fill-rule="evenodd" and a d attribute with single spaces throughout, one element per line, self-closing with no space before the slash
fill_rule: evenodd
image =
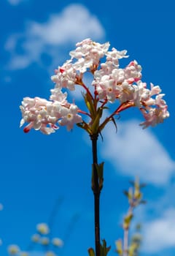
<path id="1" fill-rule="evenodd" d="M 93 174 L 92 174 L 92 189 L 94 195 L 94 221 L 95 221 L 95 244 L 96 244 L 96 256 L 100 256 L 100 192 L 98 181 L 98 158 L 97 158 L 97 140 L 98 134 L 90 135 L 92 140 L 92 150 L 93 150 Z"/>

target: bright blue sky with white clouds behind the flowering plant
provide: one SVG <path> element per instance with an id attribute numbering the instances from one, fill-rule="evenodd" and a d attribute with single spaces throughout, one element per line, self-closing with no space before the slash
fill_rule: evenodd
<path id="1" fill-rule="evenodd" d="M 86 255 L 93 246 L 88 135 L 78 127 L 50 136 L 19 128 L 23 97 L 48 99 L 53 70 L 87 37 L 128 50 L 128 61 L 141 64 L 143 80 L 163 89 L 171 115 L 164 124 L 142 130 L 139 110 L 127 110 L 117 121 L 117 133 L 110 125 L 104 130 L 104 142 L 98 143 L 99 160 L 105 162 L 101 238 L 114 255 L 128 207 L 123 189 L 137 175 L 147 183 L 147 205 L 138 208 L 135 219 L 143 223 L 141 255 L 174 255 L 174 17 L 172 1 L 1 0 L 1 255 L 7 255 L 9 244 L 26 250 L 36 224 L 50 219 L 58 198 L 62 203 L 52 233 L 66 236 L 60 254 Z M 81 104 L 79 94 L 73 97 Z M 34 250 L 31 256 L 43 255 Z"/>

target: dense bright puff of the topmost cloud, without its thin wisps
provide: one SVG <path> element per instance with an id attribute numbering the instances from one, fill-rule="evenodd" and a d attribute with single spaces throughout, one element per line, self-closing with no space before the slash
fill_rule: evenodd
<path id="1" fill-rule="evenodd" d="M 71 4 L 60 15 L 52 15 L 47 23 L 32 23 L 29 33 L 50 45 L 63 45 L 89 36 L 101 38 L 104 30 L 98 19 L 85 7 Z"/>

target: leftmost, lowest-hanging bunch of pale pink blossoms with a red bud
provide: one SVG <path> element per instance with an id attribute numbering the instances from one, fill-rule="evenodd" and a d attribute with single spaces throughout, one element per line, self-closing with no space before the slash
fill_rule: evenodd
<path id="1" fill-rule="evenodd" d="M 64 97 L 62 100 L 64 102 Z M 70 105 L 67 102 L 63 105 L 61 102 L 49 102 L 39 97 L 32 100 L 28 97 L 24 98 L 20 110 L 23 115 L 20 127 L 28 122 L 24 132 L 29 132 L 31 128 L 34 128 L 50 135 L 50 133 L 55 132 L 55 129 L 58 129 L 57 123 L 61 126 L 66 125 L 67 129 L 70 130 L 74 124 L 82 121 L 82 117 L 77 114 L 77 105 Z"/>

